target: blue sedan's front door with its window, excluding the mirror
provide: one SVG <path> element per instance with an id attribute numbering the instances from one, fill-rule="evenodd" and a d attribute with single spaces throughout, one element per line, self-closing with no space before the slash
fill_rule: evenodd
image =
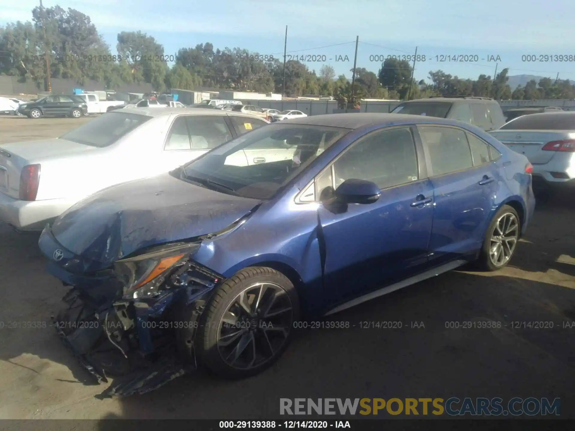
<path id="1" fill-rule="evenodd" d="M 351 178 L 381 189 L 374 203 L 320 205 L 329 299 L 345 302 L 427 264 L 433 188 L 418 160 L 423 153 L 411 128 L 377 130 L 352 144 L 316 178 L 316 196 L 324 202 L 333 188 Z"/>

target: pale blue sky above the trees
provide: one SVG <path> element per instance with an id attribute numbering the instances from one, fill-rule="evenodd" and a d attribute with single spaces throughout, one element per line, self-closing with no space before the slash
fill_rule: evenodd
<path id="1" fill-rule="evenodd" d="M 30 20 L 38 4 L 0 0 L 0 22 Z M 141 30 L 162 43 L 167 55 L 209 41 L 214 48 L 241 47 L 282 58 L 287 25 L 289 55 L 325 56 L 337 74 L 348 77 L 359 36 L 357 66 L 376 73 L 381 67 L 376 56 L 412 55 L 418 47 L 426 61 L 416 63 L 417 79 L 439 69 L 460 78 L 493 75 L 496 61 L 489 60 L 497 56 L 498 70 L 509 67 L 510 75 L 559 73 L 560 79 L 575 79 L 575 59 L 522 61 L 522 55 L 575 57 L 571 0 L 44 0 L 46 7 L 55 5 L 89 15 L 113 52 L 118 32 Z M 336 61 L 346 55 L 348 61 Z M 477 61 L 438 61 L 442 55 Z M 319 71 L 324 63 L 306 64 Z"/>

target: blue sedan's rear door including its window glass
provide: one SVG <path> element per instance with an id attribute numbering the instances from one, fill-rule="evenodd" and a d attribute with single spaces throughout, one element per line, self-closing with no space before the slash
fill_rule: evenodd
<path id="1" fill-rule="evenodd" d="M 430 263 L 440 265 L 474 253 L 497 192 L 498 171 L 489 145 L 455 126 L 419 125 L 434 187 Z"/>

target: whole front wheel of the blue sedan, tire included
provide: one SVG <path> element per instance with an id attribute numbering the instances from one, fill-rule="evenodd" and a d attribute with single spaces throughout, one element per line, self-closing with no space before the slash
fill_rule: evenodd
<path id="1" fill-rule="evenodd" d="M 286 350 L 299 316 L 296 288 L 285 275 L 244 268 L 206 304 L 194 341 L 197 359 L 225 378 L 259 374 Z"/>

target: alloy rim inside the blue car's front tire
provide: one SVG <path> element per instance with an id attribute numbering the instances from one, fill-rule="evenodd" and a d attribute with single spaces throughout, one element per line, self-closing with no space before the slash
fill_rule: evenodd
<path id="1" fill-rule="evenodd" d="M 237 370 L 251 370 L 272 359 L 285 345 L 293 324 L 289 295 L 274 283 L 256 283 L 229 303 L 220 318 L 217 349 Z"/>

